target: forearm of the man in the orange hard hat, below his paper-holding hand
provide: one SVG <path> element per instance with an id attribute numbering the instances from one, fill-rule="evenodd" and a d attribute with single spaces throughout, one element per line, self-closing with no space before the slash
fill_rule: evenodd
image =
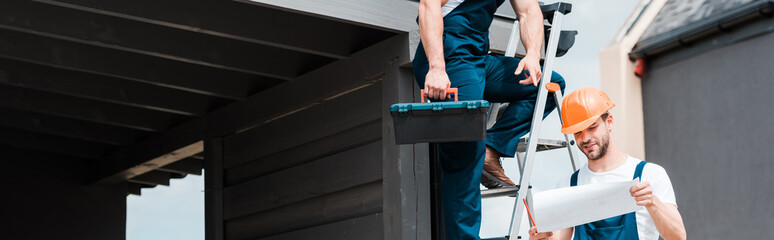
<path id="1" fill-rule="evenodd" d="M 663 203 L 654 196 L 653 204 L 647 209 L 656 224 L 656 229 L 665 240 L 686 238 L 685 226 L 677 206 Z"/>

